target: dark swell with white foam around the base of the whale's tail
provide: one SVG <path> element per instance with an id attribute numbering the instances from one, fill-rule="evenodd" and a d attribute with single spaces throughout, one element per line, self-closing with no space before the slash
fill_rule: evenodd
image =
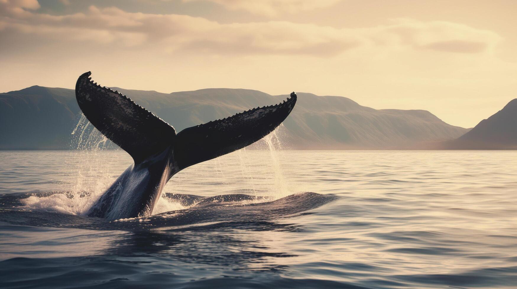
<path id="1" fill-rule="evenodd" d="M 240 223 L 265 221 L 305 212 L 320 207 L 337 196 L 300 192 L 269 201 L 265 197 L 244 194 L 202 197 L 166 194 L 168 210 L 151 216 L 108 220 L 82 216 L 91 203 L 87 192 L 36 192 L 0 196 L 0 221 L 20 226 L 80 228 L 94 230 L 132 230 L 143 228 L 179 227 L 219 222 L 218 226 L 235 227 Z M 224 224 L 223 224 L 224 223 Z M 179 227 L 178 227 L 179 226 Z M 208 226 L 204 224 L 203 226 Z"/>

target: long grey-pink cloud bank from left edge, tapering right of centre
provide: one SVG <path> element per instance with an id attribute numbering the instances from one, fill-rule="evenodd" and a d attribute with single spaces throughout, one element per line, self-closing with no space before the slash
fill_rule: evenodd
<path id="1" fill-rule="evenodd" d="M 354 35 L 312 24 L 275 21 L 220 24 L 189 15 L 130 13 L 115 7 L 95 6 L 68 15 L 31 13 L 10 17 L 0 27 L 60 41 L 120 41 L 117 44 L 121 46 L 159 44 L 170 52 L 329 56 L 359 44 Z"/>

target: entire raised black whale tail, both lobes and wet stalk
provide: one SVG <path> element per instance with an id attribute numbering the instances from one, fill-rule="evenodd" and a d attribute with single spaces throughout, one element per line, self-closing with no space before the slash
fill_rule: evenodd
<path id="1" fill-rule="evenodd" d="M 162 188 L 178 171 L 260 140 L 291 113 L 296 93 L 283 103 L 252 108 L 220 120 L 174 127 L 125 95 L 79 76 L 75 97 L 86 118 L 131 155 L 134 164 L 104 192 L 87 215 L 129 218 L 150 214 Z"/>

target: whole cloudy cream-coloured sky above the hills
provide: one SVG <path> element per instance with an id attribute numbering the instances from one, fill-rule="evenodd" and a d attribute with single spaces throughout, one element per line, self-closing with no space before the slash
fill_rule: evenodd
<path id="1" fill-rule="evenodd" d="M 517 98 L 513 0 L 0 0 L 0 92 L 246 88 L 425 109 L 473 127 Z"/>

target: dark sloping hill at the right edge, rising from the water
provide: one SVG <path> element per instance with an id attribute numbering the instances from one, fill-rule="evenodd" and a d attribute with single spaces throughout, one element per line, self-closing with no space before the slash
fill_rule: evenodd
<path id="1" fill-rule="evenodd" d="M 517 99 L 458 139 L 445 142 L 442 148 L 517 149 Z"/>

